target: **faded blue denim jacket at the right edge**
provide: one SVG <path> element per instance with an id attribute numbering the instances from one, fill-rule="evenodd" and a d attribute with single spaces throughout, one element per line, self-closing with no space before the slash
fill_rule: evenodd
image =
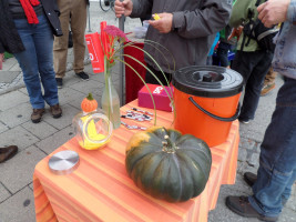
<path id="1" fill-rule="evenodd" d="M 293 23 L 295 22 L 295 24 Z M 277 38 L 273 67 L 288 78 L 296 79 L 296 0 L 290 0 L 287 21 Z"/>

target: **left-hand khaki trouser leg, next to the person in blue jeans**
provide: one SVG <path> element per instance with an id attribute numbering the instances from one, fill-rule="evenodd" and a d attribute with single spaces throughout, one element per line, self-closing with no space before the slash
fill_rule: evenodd
<path id="1" fill-rule="evenodd" d="M 69 21 L 71 0 L 58 0 L 60 9 L 60 22 L 63 36 L 54 37 L 53 43 L 53 63 L 57 78 L 63 78 L 67 69 L 67 54 L 69 41 Z"/>

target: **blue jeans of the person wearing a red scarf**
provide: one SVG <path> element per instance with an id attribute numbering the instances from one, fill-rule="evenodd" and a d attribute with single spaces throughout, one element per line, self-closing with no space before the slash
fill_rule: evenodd
<path id="1" fill-rule="evenodd" d="M 39 16 L 38 24 L 29 24 L 27 19 L 16 19 L 14 23 L 21 37 L 24 51 L 16 53 L 23 72 L 30 102 L 33 109 L 59 103 L 55 72 L 53 70 L 53 34 L 45 16 Z M 41 83 L 44 94 L 41 91 Z"/>

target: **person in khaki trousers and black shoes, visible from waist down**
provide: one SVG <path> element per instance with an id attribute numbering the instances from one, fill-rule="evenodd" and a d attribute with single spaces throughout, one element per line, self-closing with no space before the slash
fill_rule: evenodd
<path id="1" fill-rule="evenodd" d="M 57 0 L 61 11 L 60 21 L 63 36 L 54 38 L 53 61 L 57 72 L 55 80 L 58 88 L 62 88 L 63 78 L 67 71 L 67 56 L 69 47 L 69 27 L 73 40 L 73 69 L 82 80 L 89 80 L 90 77 L 84 72 L 85 41 L 84 33 L 86 28 L 86 16 L 89 0 Z"/>

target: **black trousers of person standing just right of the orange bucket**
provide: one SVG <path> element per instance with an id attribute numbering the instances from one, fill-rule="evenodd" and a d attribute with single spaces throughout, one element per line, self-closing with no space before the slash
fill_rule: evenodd
<path id="1" fill-rule="evenodd" d="M 245 95 L 239 120 L 253 120 L 258 107 L 263 81 L 272 65 L 273 53 L 265 51 L 236 51 L 232 69 L 245 81 Z"/>

